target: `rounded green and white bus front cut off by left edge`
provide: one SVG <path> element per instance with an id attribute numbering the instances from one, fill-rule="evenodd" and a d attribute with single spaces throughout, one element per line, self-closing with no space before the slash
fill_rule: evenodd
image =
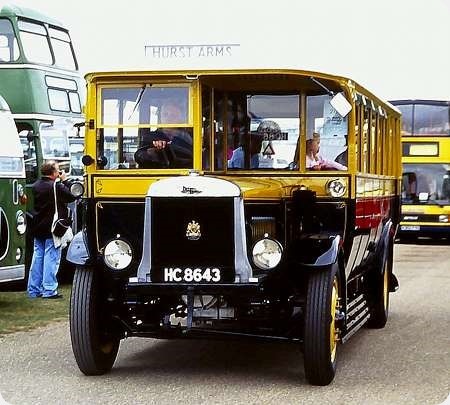
<path id="1" fill-rule="evenodd" d="M 4 283 L 25 277 L 26 195 L 19 136 L 1 96 L 0 136 L 0 283 Z"/>

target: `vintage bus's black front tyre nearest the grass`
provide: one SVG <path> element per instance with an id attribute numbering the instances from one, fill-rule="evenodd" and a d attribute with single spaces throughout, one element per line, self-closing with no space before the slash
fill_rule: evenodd
<path id="1" fill-rule="evenodd" d="M 86 375 L 111 370 L 120 339 L 106 335 L 102 300 L 97 290 L 98 275 L 77 267 L 70 297 L 70 337 L 78 367 Z"/>

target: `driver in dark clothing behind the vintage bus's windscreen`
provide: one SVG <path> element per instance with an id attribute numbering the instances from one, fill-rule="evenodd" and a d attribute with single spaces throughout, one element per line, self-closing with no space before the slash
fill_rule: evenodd
<path id="1" fill-rule="evenodd" d="M 161 106 L 161 124 L 186 122 L 179 104 L 170 100 Z M 151 168 L 158 164 L 167 167 L 192 167 L 192 135 L 185 128 L 158 128 L 144 136 L 144 145 L 135 153 L 140 167 Z"/>

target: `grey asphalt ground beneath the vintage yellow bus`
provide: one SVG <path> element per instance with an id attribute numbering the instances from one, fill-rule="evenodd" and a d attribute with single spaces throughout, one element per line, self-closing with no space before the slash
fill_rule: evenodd
<path id="1" fill-rule="evenodd" d="M 0 338 L 0 393 L 14 405 L 440 404 L 450 393 L 450 246 L 396 245 L 394 268 L 387 326 L 342 345 L 326 387 L 308 385 L 295 345 L 248 341 L 130 338 L 111 373 L 86 377 L 59 322 Z"/>

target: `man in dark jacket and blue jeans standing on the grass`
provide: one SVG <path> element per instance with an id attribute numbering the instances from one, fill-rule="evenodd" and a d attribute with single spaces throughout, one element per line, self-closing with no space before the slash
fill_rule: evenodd
<path id="1" fill-rule="evenodd" d="M 34 216 L 32 235 L 34 237 L 33 259 L 28 277 L 28 295 L 31 298 L 62 298 L 58 294 L 58 273 L 61 260 L 61 246 L 55 247 L 51 231 L 55 214 L 55 196 L 53 184 L 56 183 L 56 198 L 60 215 L 67 212 L 67 203 L 75 201 L 63 181 L 66 174 L 59 170 L 54 160 L 41 166 L 42 177 L 33 184 Z M 60 216 L 61 218 L 61 216 Z"/>

